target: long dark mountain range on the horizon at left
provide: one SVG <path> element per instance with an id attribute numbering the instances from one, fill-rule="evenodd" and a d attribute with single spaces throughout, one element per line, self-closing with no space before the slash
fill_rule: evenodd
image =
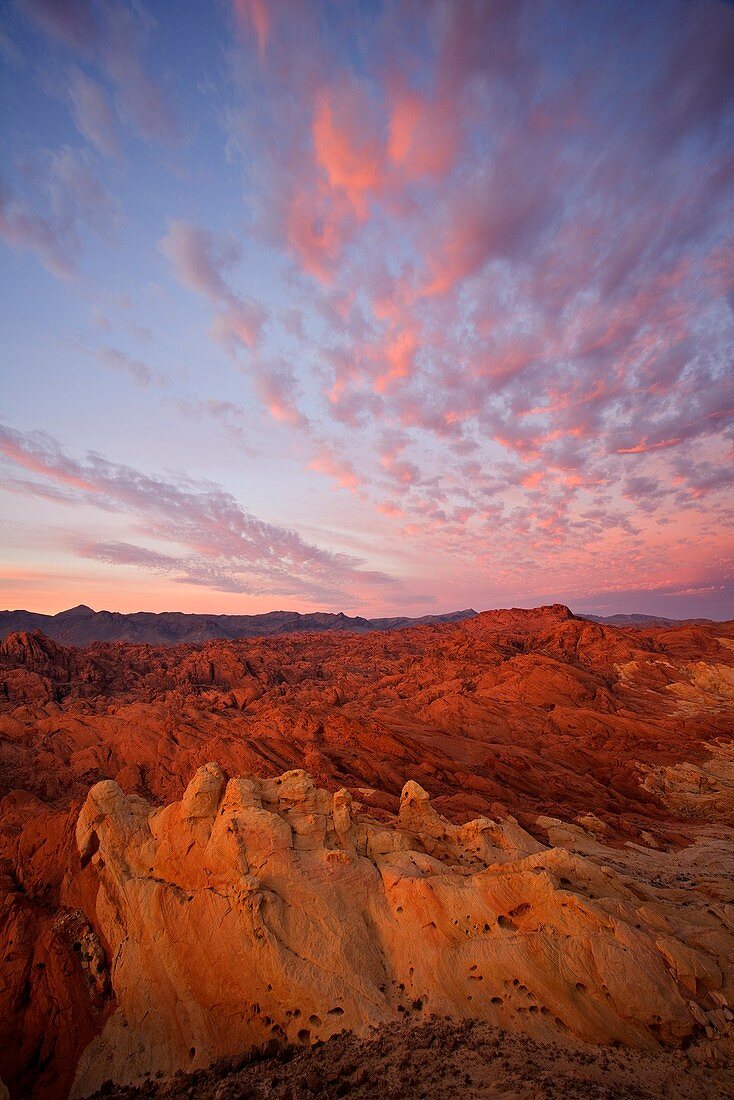
<path id="1" fill-rule="evenodd" d="M 69 646 L 88 646 L 92 641 L 136 641 L 154 646 L 179 642 L 212 641 L 215 638 L 256 638 L 294 634 L 303 630 L 349 630 L 370 634 L 402 627 L 426 626 L 434 623 L 461 623 L 476 612 L 467 608 L 446 615 L 424 615 L 420 618 L 362 618 L 331 612 L 267 612 L 264 615 L 186 615 L 183 612 L 96 612 L 86 604 L 69 607 L 58 615 L 35 612 L 0 612 L 0 639 L 18 630 L 41 630 L 47 638 Z"/>

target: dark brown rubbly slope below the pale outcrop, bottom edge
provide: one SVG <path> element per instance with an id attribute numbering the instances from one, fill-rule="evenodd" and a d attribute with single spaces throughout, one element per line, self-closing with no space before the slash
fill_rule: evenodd
<path id="1" fill-rule="evenodd" d="M 365 1037 L 222 1059 L 209 1069 L 107 1088 L 110 1100 L 724 1100 L 731 1042 L 642 1052 L 540 1043 L 490 1024 L 430 1020 Z"/>

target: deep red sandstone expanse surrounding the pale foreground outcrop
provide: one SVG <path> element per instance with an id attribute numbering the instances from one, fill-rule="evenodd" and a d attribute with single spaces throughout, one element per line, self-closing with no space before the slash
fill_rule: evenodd
<path id="1" fill-rule="evenodd" d="M 89 789 L 105 780 L 155 804 L 179 800 L 207 761 L 230 777 L 306 768 L 331 794 L 347 789 L 358 816 L 387 826 L 415 780 L 454 824 L 513 814 L 556 847 L 580 843 L 580 820 L 583 844 L 636 859 L 629 845 L 675 853 L 678 878 L 695 883 L 688 894 L 675 888 L 681 908 L 700 892 L 720 914 L 701 935 L 727 935 L 719 868 L 734 813 L 733 667 L 732 624 L 615 629 L 562 607 L 167 649 L 8 638 L 0 938 L 12 965 L 0 1077 L 13 1098 L 64 1097 L 113 1011 L 106 971 L 90 982 L 88 959 L 57 923 L 68 913 L 90 921 L 109 966 L 94 853 L 81 868 L 73 835 Z M 650 858 L 629 869 L 633 879 L 658 873 Z M 645 887 L 653 904 L 656 889 Z M 675 937 L 675 914 L 667 920 Z"/>

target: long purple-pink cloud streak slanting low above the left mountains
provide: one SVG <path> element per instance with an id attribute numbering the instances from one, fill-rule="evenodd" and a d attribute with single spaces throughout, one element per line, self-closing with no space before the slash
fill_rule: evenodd
<path id="1" fill-rule="evenodd" d="M 136 564 L 218 591 L 330 603 L 352 603 L 363 585 L 395 583 L 351 556 L 324 550 L 293 530 L 259 519 L 210 483 L 149 475 L 98 454 L 74 459 L 44 433 L 23 435 L 7 427 L 0 428 L 0 453 L 11 468 L 33 475 L 24 484 L 26 493 L 47 496 L 51 486 L 64 499 L 128 515 L 140 535 L 183 551 L 167 554 L 153 547 L 84 540 L 75 542 L 83 557 Z"/>

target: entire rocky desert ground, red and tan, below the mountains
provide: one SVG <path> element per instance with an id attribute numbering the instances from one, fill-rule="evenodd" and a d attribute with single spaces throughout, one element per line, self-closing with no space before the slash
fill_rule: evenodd
<path id="1" fill-rule="evenodd" d="M 0 1077 L 728 1094 L 733 730 L 732 623 L 11 634 Z"/>

